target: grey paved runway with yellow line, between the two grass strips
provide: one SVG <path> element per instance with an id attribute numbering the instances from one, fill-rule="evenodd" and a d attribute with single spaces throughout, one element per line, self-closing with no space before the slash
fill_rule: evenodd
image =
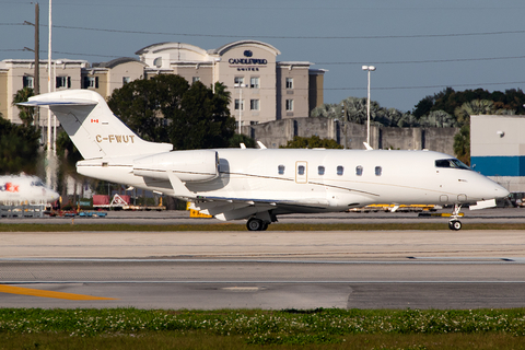
<path id="1" fill-rule="evenodd" d="M 2 233 L 0 307 L 523 307 L 524 252 L 521 231 Z"/>

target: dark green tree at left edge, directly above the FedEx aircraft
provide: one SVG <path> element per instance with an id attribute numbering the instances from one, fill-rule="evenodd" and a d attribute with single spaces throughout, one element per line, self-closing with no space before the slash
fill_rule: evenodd
<path id="1" fill-rule="evenodd" d="M 36 174 L 40 130 L 0 116 L 0 174 Z"/>

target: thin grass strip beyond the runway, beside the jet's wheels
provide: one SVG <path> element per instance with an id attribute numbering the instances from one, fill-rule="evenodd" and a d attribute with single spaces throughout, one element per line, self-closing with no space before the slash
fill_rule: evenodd
<path id="1" fill-rule="evenodd" d="M 448 230 L 443 223 L 273 223 L 268 231 L 435 231 Z M 525 230 L 525 223 L 469 223 L 462 230 Z M 82 231 L 246 231 L 244 223 L 210 224 L 125 224 L 125 223 L 0 223 L 0 232 L 82 232 Z"/>

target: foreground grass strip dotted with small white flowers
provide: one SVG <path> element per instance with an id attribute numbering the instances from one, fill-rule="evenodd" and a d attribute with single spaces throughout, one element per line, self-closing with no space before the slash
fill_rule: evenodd
<path id="1" fill-rule="evenodd" d="M 525 308 L 0 310 L 0 349 L 525 349 Z"/>

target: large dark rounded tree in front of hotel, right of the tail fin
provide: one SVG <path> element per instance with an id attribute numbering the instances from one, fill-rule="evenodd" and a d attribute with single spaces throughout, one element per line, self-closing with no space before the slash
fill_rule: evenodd
<path id="1" fill-rule="evenodd" d="M 200 82 L 161 74 L 136 80 L 113 92 L 112 110 L 139 137 L 170 142 L 176 150 L 226 148 L 234 135 L 230 93 L 215 83 L 214 93 Z"/>

